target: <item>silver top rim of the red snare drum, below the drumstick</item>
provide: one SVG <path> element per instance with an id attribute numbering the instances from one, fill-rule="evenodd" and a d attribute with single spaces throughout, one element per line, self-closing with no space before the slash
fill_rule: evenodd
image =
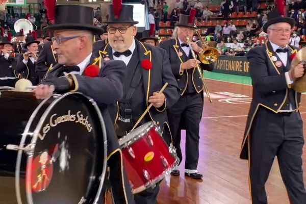
<path id="1" fill-rule="evenodd" d="M 148 121 L 148 122 L 140 125 L 139 127 L 137 127 L 134 131 L 141 129 L 141 127 L 143 127 L 143 126 L 146 126 L 146 127 L 143 130 L 141 130 L 138 135 L 135 135 L 135 136 L 131 137 L 129 140 L 127 140 L 127 137 L 129 137 L 132 133 L 134 133 L 133 131 L 130 132 L 130 133 L 127 133 L 122 138 L 120 138 L 118 140 L 120 148 L 126 148 L 126 147 L 130 146 L 131 144 L 135 143 L 137 140 L 142 138 L 148 132 L 148 130 L 150 130 L 152 127 L 155 127 L 155 130 L 161 136 L 161 131 L 160 131 L 159 127 L 156 125 L 155 121 Z"/>

